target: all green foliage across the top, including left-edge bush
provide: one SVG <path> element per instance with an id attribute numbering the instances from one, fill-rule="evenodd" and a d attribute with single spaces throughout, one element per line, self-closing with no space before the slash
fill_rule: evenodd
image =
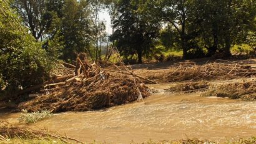
<path id="1" fill-rule="evenodd" d="M 52 62 L 79 53 L 102 62 L 116 47 L 142 63 L 159 47 L 181 50 L 184 59 L 256 47 L 255 0 L 1 0 L 0 10 L 1 90 L 39 84 Z"/>

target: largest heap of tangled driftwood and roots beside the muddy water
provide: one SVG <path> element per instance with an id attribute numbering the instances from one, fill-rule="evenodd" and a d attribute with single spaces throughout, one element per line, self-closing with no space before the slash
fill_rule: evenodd
<path id="1" fill-rule="evenodd" d="M 76 65 L 69 64 L 69 67 L 75 76 L 62 75 L 52 80 L 55 83 L 46 82 L 41 90 L 46 94 L 21 103 L 19 109 L 28 112 L 49 110 L 54 113 L 95 110 L 133 102 L 150 94 L 140 79 L 128 71 L 110 73 L 79 57 Z"/>

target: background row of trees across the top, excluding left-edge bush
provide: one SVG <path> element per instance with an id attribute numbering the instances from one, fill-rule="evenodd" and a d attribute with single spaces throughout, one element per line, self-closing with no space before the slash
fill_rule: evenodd
<path id="1" fill-rule="evenodd" d="M 154 55 L 156 46 L 180 49 L 184 59 L 216 52 L 230 56 L 235 44 L 255 45 L 255 0 L 15 0 L 32 36 L 55 45 L 64 60 L 86 52 L 101 60 L 102 45 L 113 42 L 121 55 Z M 112 36 L 99 12 L 111 15 Z M 49 42 L 51 41 L 51 42 Z"/>

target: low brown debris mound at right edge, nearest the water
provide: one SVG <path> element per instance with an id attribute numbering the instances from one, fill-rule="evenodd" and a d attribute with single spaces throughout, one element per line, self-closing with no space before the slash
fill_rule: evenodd
<path id="1" fill-rule="evenodd" d="M 229 97 L 232 99 L 240 98 L 242 100 L 256 100 L 256 81 L 215 85 L 214 87 L 210 87 L 210 89 L 202 94 L 202 96 L 217 96 Z"/>

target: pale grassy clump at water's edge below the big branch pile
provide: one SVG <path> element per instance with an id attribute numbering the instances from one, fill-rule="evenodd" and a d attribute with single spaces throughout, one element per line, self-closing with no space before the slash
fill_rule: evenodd
<path id="1" fill-rule="evenodd" d="M 18 118 L 19 122 L 36 123 L 39 120 L 52 117 L 52 113 L 48 110 L 41 112 L 28 113 L 27 110 L 22 110 L 21 117 Z"/>

